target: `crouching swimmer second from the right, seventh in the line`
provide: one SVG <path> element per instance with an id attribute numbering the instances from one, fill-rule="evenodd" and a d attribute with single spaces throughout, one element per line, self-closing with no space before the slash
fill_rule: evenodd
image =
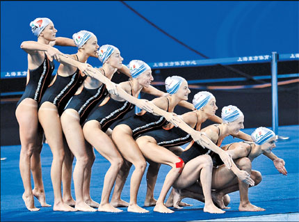
<path id="1" fill-rule="evenodd" d="M 210 125 L 201 130 L 201 132 L 204 132 L 207 135 L 207 137 L 211 140 L 211 142 L 215 145 L 218 154 L 223 153 L 223 150 L 217 148 L 217 146 L 220 146 L 220 144 L 223 141 L 223 138 L 225 138 L 226 136 L 233 135 L 241 139 L 251 139 L 251 137 L 248 134 L 244 134 L 240 131 L 240 129 L 243 129 L 244 116 L 243 113 L 236 106 L 223 107 L 221 117 L 223 119 L 222 124 Z M 192 184 L 197 182 L 197 180 L 199 180 L 202 184 L 200 185 L 202 186 L 200 187 L 200 189 L 204 191 L 204 199 L 209 201 L 209 203 L 206 203 L 206 205 L 211 204 L 211 172 L 213 167 L 213 158 L 211 158 L 211 156 L 213 157 L 213 155 L 218 155 L 216 152 L 211 151 L 214 150 L 204 149 L 201 145 L 191 142 L 191 147 L 186 148 L 184 152 L 181 154 L 181 159 L 184 159 L 184 161 L 186 162 L 186 166 L 184 167 L 181 175 L 172 185 L 175 188 L 175 195 L 173 198 L 174 207 L 179 208 L 179 201 L 177 200 L 177 195 L 180 192 L 180 189 L 191 186 Z M 232 170 L 235 173 L 239 173 L 239 177 L 243 177 L 243 180 L 245 180 L 248 183 L 253 183 L 249 175 L 247 175 L 247 172 L 242 171 L 240 173 L 239 169 L 234 166 L 235 165 L 232 164 Z M 205 167 L 206 171 L 201 171 L 202 167 Z M 198 182 L 198 184 L 200 183 Z M 215 205 L 213 207 L 215 207 Z M 204 211 L 205 210 L 209 212 L 208 207 L 207 209 L 204 209 Z M 223 211 L 217 209 L 217 212 L 221 213 Z"/>

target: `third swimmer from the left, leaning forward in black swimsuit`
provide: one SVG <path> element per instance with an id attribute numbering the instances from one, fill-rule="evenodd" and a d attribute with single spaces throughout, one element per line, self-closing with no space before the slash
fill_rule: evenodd
<path id="1" fill-rule="evenodd" d="M 113 47 L 111 45 L 105 45 L 102 46 L 100 50 L 108 46 Z M 108 82 L 115 72 L 120 70 L 120 72 L 131 77 L 129 68 L 121 62 L 122 58 L 119 54 L 119 50 L 116 47 L 113 47 L 113 49 L 118 51 L 113 54 L 115 61 L 112 62 L 114 63 L 110 65 L 108 62 L 102 68 L 96 68 L 94 70 L 97 71 L 94 77 L 86 77 L 86 80 L 79 87 L 76 94 L 67 103 L 60 117 L 63 133 L 65 134 L 67 145 L 70 148 L 65 150 L 65 160 L 63 162 L 63 201 L 67 203 L 67 205 L 76 205 L 77 209 L 80 208 L 80 210 L 84 211 L 95 210 L 91 207 L 99 207 L 99 203 L 90 197 L 91 168 L 95 161 L 95 153 L 92 147 L 85 142 L 81 125 L 92 109 L 102 102 L 109 92 L 116 92 L 116 86 L 113 86 L 115 84 Z M 102 84 L 102 82 L 104 82 L 104 84 Z M 76 157 L 76 166 L 74 168 L 76 202 L 71 194 L 72 163 L 74 156 Z M 83 201 L 90 207 L 79 207 Z"/>

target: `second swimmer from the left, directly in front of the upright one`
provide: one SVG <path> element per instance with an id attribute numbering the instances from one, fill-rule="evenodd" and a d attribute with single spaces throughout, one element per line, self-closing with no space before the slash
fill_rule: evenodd
<path id="1" fill-rule="evenodd" d="M 66 145 L 60 123 L 60 115 L 70 98 L 76 93 L 87 75 L 90 74 L 88 64 L 89 56 L 97 57 L 97 38 L 93 33 L 80 31 L 73 35 L 73 40 L 79 48 L 77 54 L 60 56 L 60 65 L 40 102 L 38 118 L 45 131 L 47 142 L 53 153 L 51 166 L 51 181 L 54 189 L 54 211 L 76 211 L 63 202 L 61 194 L 61 175 Z M 86 205 L 89 207 L 88 205 Z M 84 205 L 84 207 L 86 207 Z M 91 207 L 90 207 L 91 208 Z"/>

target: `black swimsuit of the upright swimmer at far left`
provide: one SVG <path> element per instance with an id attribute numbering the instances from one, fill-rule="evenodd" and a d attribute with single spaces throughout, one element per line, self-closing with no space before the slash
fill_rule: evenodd
<path id="1" fill-rule="evenodd" d="M 54 61 L 49 61 L 48 56 L 45 54 L 45 59 L 42 64 L 35 70 L 29 70 L 29 82 L 26 84 L 25 91 L 17 102 L 17 106 L 26 98 L 31 98 L 40 103 L 42 95 L 51 83 L 51 74 L 54 71 Z"/>

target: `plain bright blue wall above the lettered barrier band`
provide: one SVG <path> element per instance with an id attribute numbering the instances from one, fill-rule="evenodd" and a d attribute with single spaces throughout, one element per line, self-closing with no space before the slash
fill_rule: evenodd
<path id="1" fill-rule="evenodd" d="M 126 1 L 151 22 L 210 58 L 298 52 L 298 1 Z M 120 1 L 1 1 L 1 72 L 27 69 L 29 23 L 49 17 L 57 36 L 86 29 L 99 45 L 119 47 L 124 63 L 201 59 Z M 64 53 L 74 47 L 59 47 Z M 91 65 L 99 66 L 97 58 Z"/>

